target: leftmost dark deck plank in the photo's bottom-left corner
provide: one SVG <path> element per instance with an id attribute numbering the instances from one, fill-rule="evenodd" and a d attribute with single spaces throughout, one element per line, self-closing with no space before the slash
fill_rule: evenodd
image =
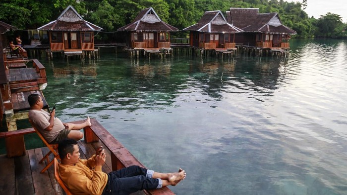
<path id="1" fill-rule="evenodd" d="M 14 159 L 0 156 L 0 194 L 15 195 Z"/>

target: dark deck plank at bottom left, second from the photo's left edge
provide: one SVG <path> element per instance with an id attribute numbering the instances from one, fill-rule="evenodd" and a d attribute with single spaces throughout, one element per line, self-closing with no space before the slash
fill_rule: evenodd
<path id="1" fill-rule="evenodd" d="M 28 152 L 25 156 L 14 158 L 17 195 L 34 195 Z"/>

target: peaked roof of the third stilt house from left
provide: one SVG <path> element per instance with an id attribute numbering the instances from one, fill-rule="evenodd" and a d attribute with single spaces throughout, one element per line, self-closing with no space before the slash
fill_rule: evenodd
<path id="1" fill-rule="evenodd" d="M 198 31 L 205 33 L 240 33 L 241 29 L 229 24 L 221 11 L 206 11 L 198 23 L 183 31 Z"/>

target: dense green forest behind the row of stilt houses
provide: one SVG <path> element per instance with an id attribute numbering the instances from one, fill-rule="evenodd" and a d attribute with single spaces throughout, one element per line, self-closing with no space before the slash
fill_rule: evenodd
<path id="1" fill-rule="evenodd" d="M 347 38 L 347 23 L 338 14 L 326 13 L 319 18 L 307 15 L 307 0 L 1 0 L 0 21 L 20 30 L 35 30 L 72 5 L 87 21 L 104 30 L 95 39 L 113 39 L 118 28 L 130 23 L 140 10 L 153 7 L 165 22 L 182 30 L 199 21 L 205 11 L 230 7 L 259 8 L 259 13 L 277 12 L 282 23 L 296 31 L 292 38 Z M 173 37 L 183 38 L 187 32 Z"/>

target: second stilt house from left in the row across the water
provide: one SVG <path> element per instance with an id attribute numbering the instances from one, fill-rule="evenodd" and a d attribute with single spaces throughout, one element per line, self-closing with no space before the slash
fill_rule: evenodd
<path id="1" fill-rule="evenodd" d="M 178 29 L 162 21 L 149 7 L 141 10 L 132 23 L 117 31 L 125 32 L 126 46 L 131 49 L 170 49 L 170 32 Z"/>

